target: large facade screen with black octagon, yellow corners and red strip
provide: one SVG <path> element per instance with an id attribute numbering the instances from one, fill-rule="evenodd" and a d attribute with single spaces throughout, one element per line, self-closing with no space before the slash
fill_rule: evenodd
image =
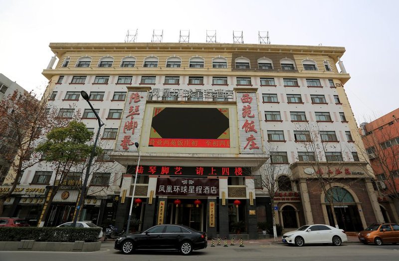
<path id="1" fill-rule="evenodd" d="M 230 148 L 228 108 L 155 107 L 149 146 Z"/>

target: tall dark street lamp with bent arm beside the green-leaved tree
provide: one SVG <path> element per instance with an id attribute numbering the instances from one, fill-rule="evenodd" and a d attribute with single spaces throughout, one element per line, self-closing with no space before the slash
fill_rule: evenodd
<path id="1" fill-rule="evenodd" d="M 96 110 L 93 108 L 93 105 L 91 105 L 91 103 L 90 103 L 90 101 L 89 101 L 89 95 L 87 94 L 87 92 L 81 91 L 81 92 L 80 92 L 80 95 L 82 95 L 83 99 L 85 99 L 85 100 L 87 101 L 87 103 L 89 104 L 91 110 L 94 112 L 94 115 L 96 115 L 96 118 L 97 118 L 97 120 L 98 120 L 98 130 L 97 130 L 96 139 L 94 140 L 93 149 L 91 150 L 89 162 L 87 163 L 87 167 L 86 167 L 86 176 L 84 177 L 84 181 L 83 181 L 83 185 L 82 185 L 82 190 L 81 190 L 81 192 L 80 192 L 79 203 L 78 203 L 78 205 L 76 206 L 76 213 L 75 213 L 75 217 L 73 218 L 72 227 L 76 227 L 76 221 L 78 220 L 78 216 L 80 215 L 80 212 L 81 212 L 83 197 L 84 197 L 84 195 L 85 195 L 85 193 L 86 193 L 87 180 L 89 179 L 90 167 L 91 167 L 91 163 L 93 162 L 94 153 L 96 152 L 96 146 L 97 146 L 98 136 L 100 135 L 100 129 L 101 129 L 101 127 L 104 125 L 104 123 L 101 122 L 101 119 L 100 119 L 100 117 L 98 116 Z"/>

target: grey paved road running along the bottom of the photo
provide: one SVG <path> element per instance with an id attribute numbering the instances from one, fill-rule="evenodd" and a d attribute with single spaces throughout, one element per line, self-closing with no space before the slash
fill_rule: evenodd
<path id="1" fill-rule="evenodd" d="M 301 248 L 283 244 L 250 244 L 244 248 L 238 245 L 223 248 L 208 247 L 195 251 L 190 258 L 174 252 L 139 252 L 123 255 L 113 249 L 113 242 L 105 242 L 101 250 L 91 253 L 65 252 L 0 252 L 0 261 L 271 261 L 271 260 L 322 260 L 322 261 L 367 261 L 367 260 L 399 260 L 399 245 L 344 244 L 333 246 L 304 246 Z"/>

